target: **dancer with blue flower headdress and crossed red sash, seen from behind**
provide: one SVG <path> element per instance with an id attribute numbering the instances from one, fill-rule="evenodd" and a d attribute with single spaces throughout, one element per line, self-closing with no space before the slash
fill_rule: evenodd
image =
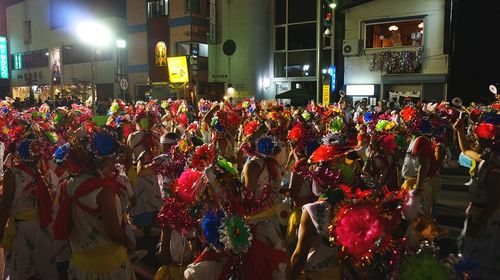
<path id="1" fill-rule="evenodd" d="M 96 127 L 86 133 L 54 153 L 55 160 L 78 170 L 61 197 L 54 235 L 70 242 L 69 279 L 135 279 L 129 260 L 135 243 L 126 234 L 113 177 L 118 144 Z"/>

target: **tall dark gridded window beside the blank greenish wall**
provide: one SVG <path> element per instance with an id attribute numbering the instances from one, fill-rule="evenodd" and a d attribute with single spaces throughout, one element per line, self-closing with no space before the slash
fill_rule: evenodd
<path id="1" fill-rule="evenodd" d="M 321 0 L 318 0 L 321 1 Z M 316 75 L 316 1 L 274 0 L 274 77 Z M 331 52 L 324 38 L 324 52 Z M 330 65 L 331 56 L 325 56 Z"/>

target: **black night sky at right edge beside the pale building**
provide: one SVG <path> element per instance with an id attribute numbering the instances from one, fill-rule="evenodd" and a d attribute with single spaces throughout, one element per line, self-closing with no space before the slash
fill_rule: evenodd
<path id="1" fill-rule="evenodd" d="M 461 0 L 455 5 L 455 52 L 448 99 L 466 103 L 493 98 L 490 84 L 500 83 L 500 1 Z M 486 101 L 486 100 L 485 100 Z"/>

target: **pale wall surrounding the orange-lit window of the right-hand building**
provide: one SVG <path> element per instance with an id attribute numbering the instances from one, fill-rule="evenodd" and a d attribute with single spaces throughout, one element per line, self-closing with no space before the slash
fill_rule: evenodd
<path id="1" fill-rule="evenodd" d="M 421 74 L 446 74 L 448 56 L 443 54 L 444 0 L 376 0 L 345 12 L 345 39 L 364 39 L 364 21 L 425 16 L 424 53 Z M 395 48 L 402 50 L 407 48 Z M 384 49 L 385 50 L 385 49 Z M 371 54 L 378 50 L 361 50 L 359 56 L 345 57 L 345 84 L 380 84 L 385 73 L 369 70 Z"/>

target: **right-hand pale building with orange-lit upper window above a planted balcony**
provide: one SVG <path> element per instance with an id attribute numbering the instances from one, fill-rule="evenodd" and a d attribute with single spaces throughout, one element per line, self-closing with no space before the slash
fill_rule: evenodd
<path id="1" fill-rule="evenodd" d="M 342 52 L 348 95 L 353 99 L 446 99 L 444 0 L 376 0 L 344 14 Z"/>

